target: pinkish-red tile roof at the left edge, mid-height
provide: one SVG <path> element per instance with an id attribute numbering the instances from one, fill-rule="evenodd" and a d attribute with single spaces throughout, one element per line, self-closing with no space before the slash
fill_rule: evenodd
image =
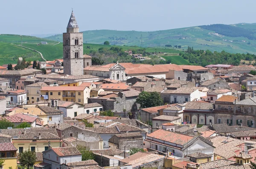
<path id="1" fill-rule="evenodd" d="M 6 116 L 6 117 L 3 117 L 3 118 L 5 118 L 6 120 L 11 121 L 12 123 L 23 123 L 23 122 L 32 123 L 37 119 L 37 117 L 33 117 L 33 116 L 30 116 L 30 115 L 24 115 L 24 114 L 21 114 L 21 113 L 11 115 L 11 116 Z M 0 117 L 0 119 L 1 119 L 1 117 Z"/>

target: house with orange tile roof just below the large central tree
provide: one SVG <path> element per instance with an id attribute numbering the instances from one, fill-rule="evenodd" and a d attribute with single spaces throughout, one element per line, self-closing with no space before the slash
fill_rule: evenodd
<path id="1" fill-rule="evenodd" d="M 140 110 L 140 121 L 147 122 L 152 121 L 152 118 L 157 117 L 159 115 L 158 111 L 161 109 L 167 108 L 168 105 L 156 106 L 156 107 L 148 107 Z"/>

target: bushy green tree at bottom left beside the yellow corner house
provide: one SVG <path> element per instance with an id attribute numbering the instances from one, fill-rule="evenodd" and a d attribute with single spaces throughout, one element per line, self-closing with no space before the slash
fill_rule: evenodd
<path id="1" fill-rule="evenodd" d="M 30 151 L 30 147 L 24 152 L 20 152 L 18 159 L 21 166 L 26 166 L 29 169 L 29 166 L 33 166 L 36 160 L 35 152 Z"/>

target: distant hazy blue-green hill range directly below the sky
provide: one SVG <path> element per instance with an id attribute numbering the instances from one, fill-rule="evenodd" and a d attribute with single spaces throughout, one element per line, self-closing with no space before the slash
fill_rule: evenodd
<path id="1" fill-rule="evenodd" d="M 220 25 L 220 24 L 216 24 Z M 256 24 L 239 23 L 225 26 L 233 28 L 231 31 L 240 30 L 247 35 L 256 33 Z M 208 28 L 209 29 L 209 28 Z M 204 49 L 210 51 L 227 51 L 230 53 L 252 53 L 256 54 L 256 40 L 254 35 L 245 36 L 239 34 L 230 37 L 222 34 L 215 34 L 216 30 L 207 30 L 195 26 L 189 28 L 177 28 L 163 31 L 114 31 L 114 30 L 94 30 L 83 31 L 84 42 L 103 44 L 109 41 L 111 45 L 128 45 L 140 47 L 165 47 L 165 45 L 181 45 L 181 49 L 193 46 L 195 50 Z M 249 39 L 248 39 L 249 38 Z M 46 37 L 46 39 L 62 42 L 62 35 Z M 249 43 L 250 42 L 250 43 Z"/>

